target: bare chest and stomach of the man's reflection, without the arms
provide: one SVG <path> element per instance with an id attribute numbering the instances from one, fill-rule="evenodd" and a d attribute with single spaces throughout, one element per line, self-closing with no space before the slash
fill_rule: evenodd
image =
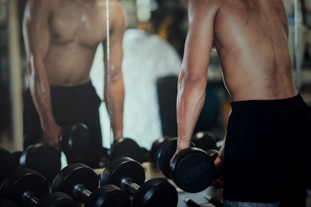
<path id="1" fill-rule="evenodd" d="M 49 83 L 86 83 L 97 46 L 106 39 L 106 0 L 55 0 L 53 5 L 45 59 Z"/>

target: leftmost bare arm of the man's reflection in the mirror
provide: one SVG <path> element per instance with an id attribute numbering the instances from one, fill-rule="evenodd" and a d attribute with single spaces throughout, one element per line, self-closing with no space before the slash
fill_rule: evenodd
<path id="1" fill-rule="evenodd" d="M 44 65 L 49 50 L 50 0 L 28 0 L 23 17 L 29 88 L 43 129 L 43 142 L 59 148 L 61 128 L 52 114 L 50 86 Z"/>

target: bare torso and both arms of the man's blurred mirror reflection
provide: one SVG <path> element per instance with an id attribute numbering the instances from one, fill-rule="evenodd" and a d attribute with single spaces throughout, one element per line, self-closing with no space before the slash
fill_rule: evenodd
<path id="1" fill-rule="evenodd" d="M 109 0 L 110 100 L 114 139 L 122 137 L 124 84 L 121 70 L 125 13 Z M 28 0 L 23 19 L 30 92 L 40 116 L 43 142 L 59 149 L 62 128 L 52 114 L 50 86 L 76 86 L 90 81 L 99 43 L 107 62 L 106 0 Z M 108 67 L 105 64 L 105 74 Z M 105 100 L 108 100 L 105 75 Z M 108 108 L 108 102 L 105 102 Z"/>

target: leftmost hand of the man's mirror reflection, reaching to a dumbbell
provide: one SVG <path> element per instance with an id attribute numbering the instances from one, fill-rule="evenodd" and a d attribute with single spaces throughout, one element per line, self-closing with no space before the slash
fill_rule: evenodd
<path id="1" fill-rule="evenodd" d="M 54 146 L 58 151 L 60 149 L 60 135 L 63 128 L 59 125 L 49 127 L 49 129 L 43 129 L 42 142 Z"/>

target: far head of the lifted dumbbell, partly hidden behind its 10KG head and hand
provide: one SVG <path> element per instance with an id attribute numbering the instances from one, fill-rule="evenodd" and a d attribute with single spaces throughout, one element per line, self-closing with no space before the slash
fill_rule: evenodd
<path id="1" fill-rule="evenodd" d="M 195 145 L 191 143 L 191 147 L 195 147 Z M 162 142 L 156 154 L 156 162 L 159 167 L 159 170 L 168 179 L 172 179 L 170 177 L 169 163 L 170 159 L 175 154 L 176 149 L 177 149 L 177 137 L 170 138 Z"/>

